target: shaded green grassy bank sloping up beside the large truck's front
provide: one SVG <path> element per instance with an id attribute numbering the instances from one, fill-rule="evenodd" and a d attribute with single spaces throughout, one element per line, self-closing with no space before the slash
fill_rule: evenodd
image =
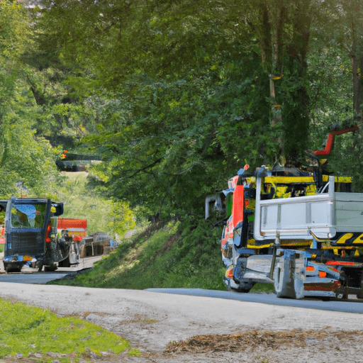
<path id="1" fill-rule="evenodd" d="M 190 218 L 169 223 L 123 242 L 115 253 L 97 262 L 91 272 L 72 281 L 51 284 L 117 289 L 225 289 L 219 233 L 204 220 L 196 222 Z"/>

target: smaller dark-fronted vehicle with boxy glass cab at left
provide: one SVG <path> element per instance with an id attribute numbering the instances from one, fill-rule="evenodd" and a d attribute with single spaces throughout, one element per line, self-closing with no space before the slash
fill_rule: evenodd
<path id="1" fill-rule="evenodd" d="M 57 234 L 63 203 L 50 199 L 11 197 L 6 202 L 4 269 L 20 272 L 24 264 L 48 270 L 79 263 L 79 241 Z M 1 204 L 1 203 L 0 203 Z"/>

